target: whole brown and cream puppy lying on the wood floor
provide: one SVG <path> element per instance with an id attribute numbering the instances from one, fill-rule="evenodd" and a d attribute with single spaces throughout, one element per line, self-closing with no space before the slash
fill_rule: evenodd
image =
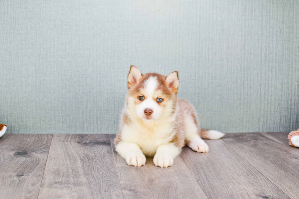
<path id="1" fill-rule="evenodd" d="M 142 166 L 154 156 L 156 166 L 172 166 L 185 144 L 193 151 L 207 153 L 202 140 L 219 139 L 224 134 L 201 130 L 196 112 L 187 101 L 178 100 L 178 72 L 168 76 L 141 74 L 131 66 L 128 94 L 121 115 L 115 148 L 128 165 Z"/>

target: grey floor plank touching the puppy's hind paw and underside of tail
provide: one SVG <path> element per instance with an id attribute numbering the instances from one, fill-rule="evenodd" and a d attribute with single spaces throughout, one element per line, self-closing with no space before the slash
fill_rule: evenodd
<path id="1" fill-rule="evenodd" d="M 183 148 L 181 157 L 209 198 L 289 198 L 223 140 L 205 140 L 209 153 Z"/>

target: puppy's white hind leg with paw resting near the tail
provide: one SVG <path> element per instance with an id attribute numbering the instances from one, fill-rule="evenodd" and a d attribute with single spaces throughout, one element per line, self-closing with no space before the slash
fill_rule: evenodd
<path id="1" fill-rule="evenodd" d="M 209 152 L 208 145 L 202 140 L 198 134 L 197 121 L 191 115 L 186 114 L 185 118 L 185 132 L 186 132 L 186 145 L 193 151 L 207 153 Z"/>

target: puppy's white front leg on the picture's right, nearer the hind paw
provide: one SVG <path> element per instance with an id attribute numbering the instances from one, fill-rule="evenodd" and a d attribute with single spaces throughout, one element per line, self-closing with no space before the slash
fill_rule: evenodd
<path id="1" fill-rule="evenodd" d="M 172 166 L 173 159 L 181 152 L 181 148 L 176 147 L 173 143 L 163 144 L 157 148 L 154 156 L 154 164 L 160 167 Z"/>

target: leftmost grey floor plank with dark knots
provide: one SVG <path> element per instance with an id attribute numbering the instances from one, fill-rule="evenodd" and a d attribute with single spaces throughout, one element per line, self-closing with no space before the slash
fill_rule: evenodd
<path id="1" fill-rule="evenodd" d="M 0 137 L 0 197 L 37 198 L 52 134 Z"/>

